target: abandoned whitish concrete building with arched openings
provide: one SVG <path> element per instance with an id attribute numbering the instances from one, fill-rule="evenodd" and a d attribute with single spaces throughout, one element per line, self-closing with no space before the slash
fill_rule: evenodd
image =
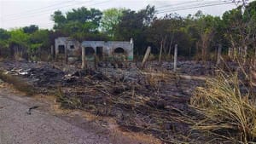
<path id="1" fill-rule="evenodd" d="M 69 60 L 79 60 L 82 55 L 82 47 L 85 49 L 86 60 L 114 60 L 117 57 L 124 60 L 133 60 L 133 40 L 124 41 L 79 41 L 69 37 L 55 38 L 55 57 L 60 58 L 67 53 Z M 67 49 L 66 49 L 67 48 Z"/>

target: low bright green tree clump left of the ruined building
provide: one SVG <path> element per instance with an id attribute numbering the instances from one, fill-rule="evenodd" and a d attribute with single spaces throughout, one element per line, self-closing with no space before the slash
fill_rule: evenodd
<path id="1" fill-rule="evenodd" d="M 26 28 L 12 29 L 9 32 L 0 29 L 0 52 L 2 55 L 15 55 L 15 53 L 20 53 L 20 56 L 33 55 L 38 53 L 38 49 L 43 53 L 44 51 L 49 51 L 50 37 L 48 30 L 36 30 L 32 32 L 29 27 L 37 26 L 26 26 Z M 27 31 L 26 31 L 27 30 Z M 26 31 L 26 32 L 25 32 Z M 3 54 L 4 52 L 4 54 Z"/>

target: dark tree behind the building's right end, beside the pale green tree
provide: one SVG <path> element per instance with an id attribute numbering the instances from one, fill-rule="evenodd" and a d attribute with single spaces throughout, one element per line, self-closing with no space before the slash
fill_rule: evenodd
<path id="1" fill-rule="evenodd" d="M 116 26 L 114 37 L 118 40 L 129 41 L 132 37 L 135 42 L 135 54 L 143 55 L 148 46 L 147 29 L 155 19 L 154 7 L 147 6 L 138 12 L 125 9 L 119 25 Z"/>

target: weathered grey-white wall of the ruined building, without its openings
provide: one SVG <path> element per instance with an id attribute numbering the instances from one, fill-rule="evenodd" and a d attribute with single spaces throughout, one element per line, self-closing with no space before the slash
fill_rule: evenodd
<path id="1" fill-rule="evenodd" d="M 112 57 L 115 55 L 114 50 L 117 48 L 122 48 L 125 51 L 125 55 L 127 56 L 127 60 L 133 60 L 133 41 L 131 42 L 123 42 L 123 41 L 84 41 L 79 43 L 78 41 L 69 39 L 68 37 L 58 37 L 55 39 L 55 55 L 60 55 L 59 46 L 64 45 L 65 49 L 67 47 L 67 55 L 68 56 L 81 56 L 81 47 L 85 49 L 90 47 L 94 49 L 96 53 L 97 47 L 102 47 L 103 55 L 106 57 Z M 70 46 L 73 45 L 74 49 L 70 49 Z"/>

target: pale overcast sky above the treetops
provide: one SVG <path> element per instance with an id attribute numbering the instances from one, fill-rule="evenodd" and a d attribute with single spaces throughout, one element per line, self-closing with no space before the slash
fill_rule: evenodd
<path id="1" fill-rule="evenodd" d="M 150 4 L 159 11 L 159 17 L 173 12 L 185 16 L 195 14 L 199 9 L 204 14 L 222 15 L 226 10 L 236 8 L 235 3 L 229 2 L 230 0 L 0 0 L 0 27 L 10 29 L 33 24 L 50 29 L 53 26 L 50 14 L 55 10 L 60 9 L 65 13 L 82 6 L 101 10 L 109 8 L 139 10 Z M 202 5 L 214 6 L 195 8 Z"/>

